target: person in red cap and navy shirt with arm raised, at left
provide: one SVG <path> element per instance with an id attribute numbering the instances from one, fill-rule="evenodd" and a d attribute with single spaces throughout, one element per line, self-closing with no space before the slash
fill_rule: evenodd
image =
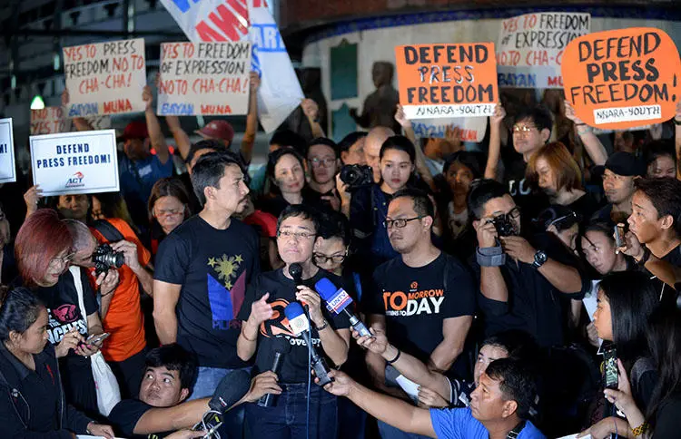
<path id="1" fill-rule="evenodd" d="M 121 194 L 138 227 L 148 225 L 146 203 L 152 193 L 153 184 L 163 177 L 173 175 L 173 161 L 170 160 L 168 145 L 154 113 L 153 95 L 148 85 L 144 87 L 142 97 L 146 104 L 146 122 L 133 121 L 127 124 L 120 137 L 124 142 L 124 155 L 118 161 Z M 150 144 L 153 151 L 149 149 Z"/>

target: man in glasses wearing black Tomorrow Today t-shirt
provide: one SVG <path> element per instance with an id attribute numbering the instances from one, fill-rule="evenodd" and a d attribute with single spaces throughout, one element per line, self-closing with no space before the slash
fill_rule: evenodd
<path id="1" fill-rule="evenodd" d="M 445 372 L 463 351 L 475 312 L 475 288 L 466 268 L 432 244 L 434 218 L 425 192 L 395 193 L 386 228 L 400 257 L 376 268 L 364 305 L 374 330 L 387 332 L 398 349 Z M 367 353 L 375 384 L 392 395 L 403 395 L 386 385 L 386 363 Z M 379 422 L 379 430 L 382 437 L 395 434 L 395 428 L 385 423 Z"/>

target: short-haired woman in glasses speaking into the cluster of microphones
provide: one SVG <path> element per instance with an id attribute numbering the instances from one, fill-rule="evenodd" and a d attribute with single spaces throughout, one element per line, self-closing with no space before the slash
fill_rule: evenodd
<path id="1" fill-rule="evenodd" d="M 239 313 L 242 333 L 237 349 L 244 361 L 255 356 L 256 373 L 270 370 L 275 352 L 283 353 L 277 374 L 281 393 L 271 407 L 248 405 L 246 416 L 252 437 L 267 437 L 273 431 L 288 431 L 290 437 L 321 439 L 336 436 L 336 398 L 311 383 L 310 351 L 305 339 L 296 336 L 285 317 L 284 309 L 299 301 L 309 314 L 310 337 L 315 351 L 328 358 L 329 366 L 341 366 L 348 357 L 350 322 L 347 317 L 332 315 L 322 307 L 320 295 L 311 288 L 321 278 L 328 278 L 341 288 L 341 278 L 322 270 L 312 262 L 312 249 L 319 223 L 315 210 L 303 204 L 287 207 L 277 225 L 277 248 L 285 263 L 262 273 L 253 281 Z M 301 281 L 290 273 L 291 264 L 301 265 Z M 331 396 L 331 397 L 330 397 Z M 306 406 L 310 407 L 309 432 Z M 309 433 L 309 434 L 308 434 Z"/>

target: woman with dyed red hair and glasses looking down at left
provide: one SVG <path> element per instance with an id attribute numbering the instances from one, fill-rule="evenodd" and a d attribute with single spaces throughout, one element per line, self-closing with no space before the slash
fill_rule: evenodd
<path id="1" fill-rule="evenodd" d="M 79 306 L 69 263 L 74 257 L 68 227 L 54 210 L 36 210 L 15 240 L 19 278 L 13 287 L 30 288 L 47 307 L 47 335 L 60 359 L 66 401 L 87 415 L 97 415 L 97 395 L 90 358 L 100 346 L 88 345 L 85 337 L 104 332 L 90 283 L 82 274 L 86 316 Z"/>

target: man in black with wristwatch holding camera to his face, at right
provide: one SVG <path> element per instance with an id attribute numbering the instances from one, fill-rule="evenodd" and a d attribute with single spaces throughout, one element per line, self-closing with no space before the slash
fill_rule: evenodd
<path id="1" fill-rule="evenodd" d="M 589 288 L 566 246 L 546 234 L 520 236 L 520 214 L 503 185 L 479 180 L 469 192 L 478 235 L 471 266 L 479 282 L 478 304 L 485 336 L 520 329 L 539 346 L 563 345 L 567 298 Z"/>

